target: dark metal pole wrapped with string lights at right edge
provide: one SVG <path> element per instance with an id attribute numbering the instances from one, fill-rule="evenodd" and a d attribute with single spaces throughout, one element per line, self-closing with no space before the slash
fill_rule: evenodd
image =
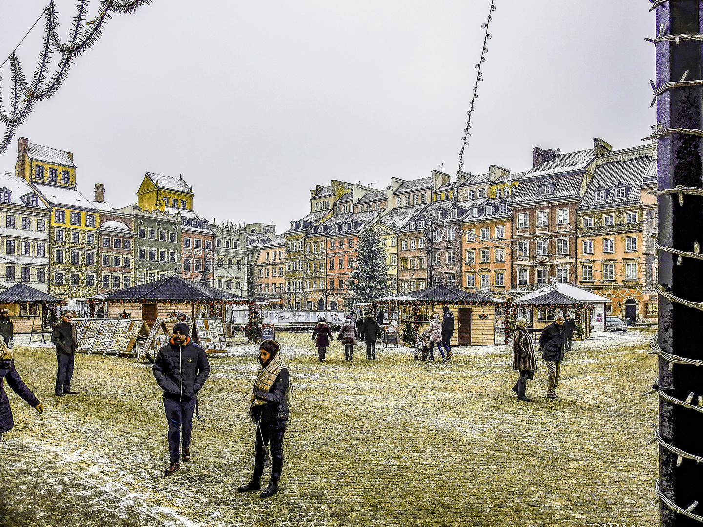
<path id="1" fill-rule="evenodd" d="M 656 48 L 659 333 L 659 445 L 654 486 L 660 524 L 700 526 L 703 511 L 703 1 L 650 0 L 657 14 Z M 649 139 L 649 138 L 647 138 Z M 697 402 L 697 405 L 693 404 Z"/>

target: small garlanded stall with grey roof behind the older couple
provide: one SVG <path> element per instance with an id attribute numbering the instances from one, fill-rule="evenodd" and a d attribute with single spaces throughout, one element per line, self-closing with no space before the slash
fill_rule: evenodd
<path id="1" fill-rule="evenodd" d="M 593 306 L 576 300 L 555 290 L 546 289 L 538 296 L 513 300 L 506 307 L 508 324 L 505 327 L 505 342 L 508 342 L 512 331 L 515 330 L 515 318 L 527 320 L 527 330 L 533 338 L 538 339 L 542 330 L 553 323 L 556 315 L 571 313 L 576 330 L 574 339 L 583 340 L 591 337 L 591 311 Z M 584 324 L 583 321 L 586 321 Z"/>

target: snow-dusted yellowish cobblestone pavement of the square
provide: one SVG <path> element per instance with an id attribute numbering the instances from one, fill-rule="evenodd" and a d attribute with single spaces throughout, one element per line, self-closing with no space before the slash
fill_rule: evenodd
<path id="1" fill-rule="evenodd" d="M 15 346 L 44 403 L 10 394 L 2 526 L 583 526 L 657 521 L 656 358 L 648 330 L 574 342 L 557 393 L 540 361 L 520 403 L 507 346 L 455 349 L 451 363 L 406 348 L 335 341 L 319 363 L 310 334 L 281 333 L 295 382 L 280 493 L 238 495 L 253 463 L 247 403 L 257 346 L 211 358 L 193 461 L 167 478 L 167 423 L 149 365 L 79 354 L 75 396 L 53 396 L 50 347 Z M 264 479 L 266 484 L 267 479 Z"/>

